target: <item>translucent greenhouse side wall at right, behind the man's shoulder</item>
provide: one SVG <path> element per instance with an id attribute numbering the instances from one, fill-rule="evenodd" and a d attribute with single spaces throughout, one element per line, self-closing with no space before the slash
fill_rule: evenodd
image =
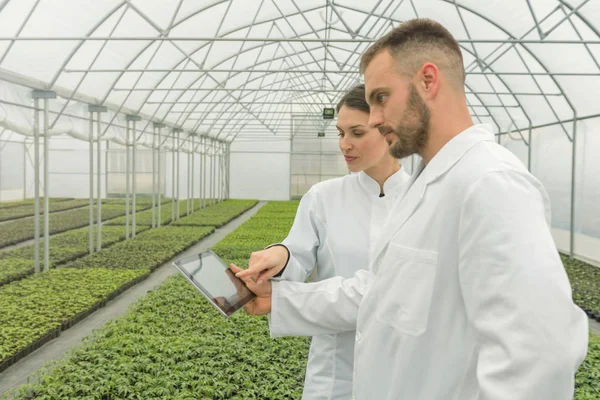
<path id="1" fill-rule="evenodd" d="M 566 124 L 569 137 L 560 125 L 531 132 L 531 172 L 542 182 L 552 206 L 552 233 L 557 247 L 570 249 L 571 176 L 573 127 Z M 528 133 L 523 132 L 525 140 Z M 502 136 L 502 145 L 528 164 L 528 148 L 519 135 Z M 575 163 L 574 253 L 600 265 L 600 118 L 577 123 Z"/>

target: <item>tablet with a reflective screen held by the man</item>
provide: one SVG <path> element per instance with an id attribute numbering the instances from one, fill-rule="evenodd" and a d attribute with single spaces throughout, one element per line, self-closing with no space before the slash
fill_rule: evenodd
<path id="1" fill-rule="evenodd" d="M 173 265 L 225 317 L 256 297 L 212 250 L 180 258 Z"/>

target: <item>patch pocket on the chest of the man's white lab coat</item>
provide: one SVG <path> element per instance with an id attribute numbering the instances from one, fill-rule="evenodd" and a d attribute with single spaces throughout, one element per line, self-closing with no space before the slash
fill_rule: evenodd
<path id="1" fill-rule="evenodd" d="M 390 243 L 377 281 L 379 322 L 399 332 L 420 336 L 427 330 L 438 253 Z"/>

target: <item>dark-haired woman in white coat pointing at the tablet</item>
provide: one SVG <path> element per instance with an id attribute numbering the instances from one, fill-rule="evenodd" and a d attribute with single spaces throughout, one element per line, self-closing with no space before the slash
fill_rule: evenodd
<path id="1" fill-rule="evenodd" d="M 389 154 L 377 129 L 368 127 L 365 87 L 350 90 L 337 105 L 339 146 L 354 174 L 320 182 L 302 197 L 294 224 L 281 244 L 252 253 L 248 270 L 260 283 L 273 276 L 304 282 L 350 278 L 369 265 L 372 246 L 388 206 L 404 192 L 409 176 Z M 352 398 L 355 332 L 314 336 L 303 400 Z"/>

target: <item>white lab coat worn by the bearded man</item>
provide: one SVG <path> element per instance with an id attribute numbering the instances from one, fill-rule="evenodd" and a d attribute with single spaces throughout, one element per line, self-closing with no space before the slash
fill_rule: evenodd
<path id="1" fill-rule="evenodd" d="M 483 126 L 391 210 L 370 271 L 273 283 L 273 337 L 357 328 L 357 400 L 567 400 L 588 322 L 542 185 Z M 304 310 L 319 307 L 320 314 Z"/>

